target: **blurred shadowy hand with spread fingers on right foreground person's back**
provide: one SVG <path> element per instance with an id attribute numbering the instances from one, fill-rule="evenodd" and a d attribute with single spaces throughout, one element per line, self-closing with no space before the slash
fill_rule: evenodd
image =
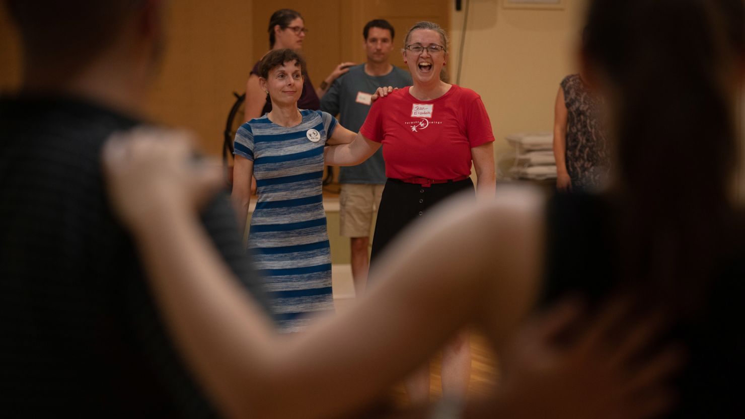
<path id="1" fill-rule="evenodd" d="M 505 417 L 647 419 L 668 412 L 674 397 L 665 383 L 683 356 L 671 346 L 640 362 L 663 322 L 623 326 L 626 314 L 624 304 L 611 304 L 561 344 L 557 336 L 576 331 L 585 316 L 579 304 L 565 302 L 530 320 L 502 359 Z"/>

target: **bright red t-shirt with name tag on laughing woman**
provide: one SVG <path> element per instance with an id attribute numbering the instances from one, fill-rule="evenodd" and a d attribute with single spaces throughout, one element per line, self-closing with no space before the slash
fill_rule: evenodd
<path id="1" fill-rule="evenodd" d="M 376 100 L 360 132 L 385 146 L 393 179 L 469 176 L 471 149 L 494 141 L 481 96 L 456 85 L 435 100 L 417 100 L 408 87 Z"/>

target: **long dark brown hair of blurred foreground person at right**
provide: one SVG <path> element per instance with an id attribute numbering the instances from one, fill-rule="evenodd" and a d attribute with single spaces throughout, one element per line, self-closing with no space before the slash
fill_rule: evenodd
<path id="1" fill-rule="evenodd" d="M 742 0 L 593 0 L 583 54 L 612 84 L 620 266 L 695 308 L 727 250 Z"/>

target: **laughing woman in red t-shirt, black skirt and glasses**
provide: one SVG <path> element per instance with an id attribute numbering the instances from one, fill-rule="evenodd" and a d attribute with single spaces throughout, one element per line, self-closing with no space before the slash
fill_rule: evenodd
<path id="1" fill-rule="evenodd" d="M 456 193 L 474 195 L 473 162 L 479 196 L 494 196 L 494 135 L 481 97 L 440 79 L 448 60 L 447 36 L 439 25 L 419 22 L 404 41 L 404 62 L 413 86 L 378 100 L 351 144 L 326 149 L 326 164 L 358 164 L 384 144 L 388 180 L 378 208 L 373 261 L 400 231 L 429 208 Z M 443 307 L 444 308 L 444 307 Z M 471 357 L 466 333 L 443 351 L 443 393 L 463 397 Z M 429 398 L 429 368 L 407 383 L 414 403 Z"/>

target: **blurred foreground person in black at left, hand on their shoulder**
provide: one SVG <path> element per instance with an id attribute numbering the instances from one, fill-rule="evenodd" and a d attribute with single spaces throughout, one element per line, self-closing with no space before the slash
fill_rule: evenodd
<path id="1" fill-rule="evenodd" d="M 142 121 L 167 32 L 161 3 L 5 2 L 24 82 L 0 99 L 3 418 L 215 416 L 166 336 L 101 179 L 101 144 Z M 256 281 L 226 199 L 202 214 L 236 287 Z"/>

